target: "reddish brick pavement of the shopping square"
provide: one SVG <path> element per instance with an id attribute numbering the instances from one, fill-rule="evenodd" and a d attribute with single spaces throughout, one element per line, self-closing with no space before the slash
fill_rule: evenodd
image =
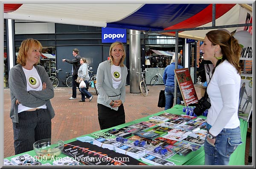
<path id="1" fill-rule="evenodd" d="M 148 96 L 144 97 L 140 93 L 130 93 L 130 86 L 126 86 L 124 103 L 126 122 L 164 110 L 164 108 L 157 107 L 159 92 L 164 89 L 164 86 L 148 86 L 148 89 Z M 55 117 L 52 119 L 52 138 L 69 140 L 100 130 L 97 115 L 97 95 L 93 88 L 89 89 L 89 92 L 93 94 L 91 102 L 88 102 L 88 99 L 86 102 L 79 102 L 81 95 L 78 95 L 78 90 L 76 100 L 68 100 L 72 95 L 70 88 L 56 88 L 54 92 L 55 96 L 51 99 L 55 110 Z M 9 117 L 10 106 L 10 90 L 4 89 L 4 158 L 15 155 L 12 120 Z M 248 136 L 247 141 L 245 164 L 247 164 L 249 154 L 250 137 Z"/>

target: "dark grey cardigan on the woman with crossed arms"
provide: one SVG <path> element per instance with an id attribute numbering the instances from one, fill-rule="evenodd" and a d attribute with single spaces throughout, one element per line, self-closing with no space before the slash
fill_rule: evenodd
<path id="1" fill-rule="evenodd" d="M 12 119 L 12 122 L 14 123 L 19 123 L 18 104 L 16 105 L 16 100 L 19 100 L 19 102 L 22 103 L 23 106 L 32 108 L 43 106 L 44 104 L 46 104 L 51 118 L 55 116 L 54 109 L 52 108 L 52 104 L 50 102 L 50 99 L 54 97 L 52 83 L 49 80 L 49 76 L 45 71 L 44 67 L 36 65 L 35 69 L 37 70 L 42 83 L 46 83 L 46 89 L 44 90 L 31 90 L 29 92 L 27 91 L 26 76 L 20 64 L 12 67 L 9 72 L 9 88 L 12 104 L 10 117 Z"/>

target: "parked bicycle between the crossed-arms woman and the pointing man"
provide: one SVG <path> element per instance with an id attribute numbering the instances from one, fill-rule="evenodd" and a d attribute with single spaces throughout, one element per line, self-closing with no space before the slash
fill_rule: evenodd
<path id="1" fill-rule="evenodd" d="M 58 76 L 58 72 L 61 71 L 62 69 L 58 69 L 56 71 L 56 77 L 54 76 L 51 76 L 49 77 L 49 79 L 51 80 L 52 82 L 52 85 L 53 85 L 53 88 L 55 89 L 56 87 L 58 87 L 58 84 L 59 84 L 59 80 L 61 80 L 62 84 L 69 87 L 69 88 L 72 88 L 72 75 L 70 75 L 69 72 L 66 72 L 66 78 L 65 80 L 61 79 L 59 76 Z"/>

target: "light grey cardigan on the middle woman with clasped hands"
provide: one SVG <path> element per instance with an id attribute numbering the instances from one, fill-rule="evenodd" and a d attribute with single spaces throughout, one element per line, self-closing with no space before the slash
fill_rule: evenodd
<path id="1" fill-rule="evenodd" d="M 122 100 L 122 103 L 125 103 L 125 83 L 126 77 L 128 74 L 127 67 L 121 68 L 121 83 L 118 88 L 113 88 L 112 76 L 111 76 L 111 65 L 109 60 L 106 60 L 99 64 L 97 69 L 97 83 L 96 89 L 99 92 L 97 103 L 102 104 L 104 106 L 110 107 L 111 109 L 118 110 L 117 108 L 112 108 L 109 104 L 112 100 Z M 119 95 L 121 94 L 121 95 Z M 116 97 L 109 97 L 115 96 Z"/>

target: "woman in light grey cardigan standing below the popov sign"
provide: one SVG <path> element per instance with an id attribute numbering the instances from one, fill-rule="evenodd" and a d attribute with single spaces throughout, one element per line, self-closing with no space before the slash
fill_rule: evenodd
<path id="1" fill-rule="evenodd" d="M 112 43 L 110 60 L 99 64 L 96 89 L 99 92 L 98 118 L 100 129 L 125 123 L 125 83 L 128 74 L 124 65 L 125 49 L 121 42 Z"/>

